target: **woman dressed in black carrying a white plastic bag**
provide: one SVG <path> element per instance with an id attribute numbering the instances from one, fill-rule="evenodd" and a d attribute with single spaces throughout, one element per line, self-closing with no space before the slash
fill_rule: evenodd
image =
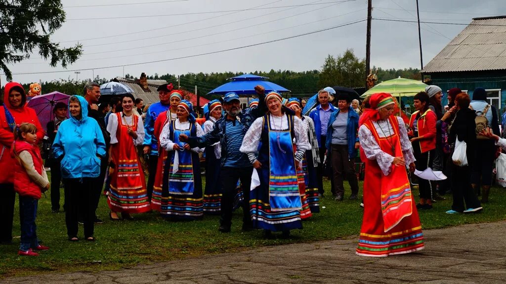
<path id="1" fill-rule="evenodd" d="M 471 186 L 471 166 L 474 162 L 473 153 L 476 146 L 476 113 L 469 109 L 470 101 L 469 95 L 463 92 L 455 98 L 457 112 L 449 131 L 449 142 L 453 152 L 451 154 L 453 160 L 451 164 L 453 204 L 451 210 L 446 211 L 447 214 L 474 213 L 483 210 Z M 466 159 L 462 158 L 464 147 L 466 148 Z M 466 160 L 467 163 L 465 163 Z"/>

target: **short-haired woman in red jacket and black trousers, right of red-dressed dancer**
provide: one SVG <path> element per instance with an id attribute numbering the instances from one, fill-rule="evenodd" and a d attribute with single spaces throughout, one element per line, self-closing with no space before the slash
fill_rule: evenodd
<path id="1" fill-rule="evenodd" d="M 429 95 L 419 92 L 413 98 L 415 112 L 409 119 L 411 131 L 408 133 L 416 159 L 416 169 L 423 171 L 432 168 L 434 149 L 436 149 L 436 114 L 429 109 Z M 418 209 L 432 209 L 432 193 L 436 190 L 432 181 L 418 178 L 420 202 Z"/>

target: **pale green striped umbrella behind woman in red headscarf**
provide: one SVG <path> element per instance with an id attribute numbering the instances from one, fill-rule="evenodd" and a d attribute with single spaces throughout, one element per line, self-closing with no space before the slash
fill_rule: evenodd
<path id="1" fill-rule="evenodd" d="M 399 77 L 397 79 L 388 80 L 375 85 L 364 92 L 360 98 L 365 98 L 369 94 L 377 92 L 388 92 L 394 97 L 413 97 L 416 93 L 425 91 L 425 87 L 427 87 L 427 84 L 421 81 Z"/>

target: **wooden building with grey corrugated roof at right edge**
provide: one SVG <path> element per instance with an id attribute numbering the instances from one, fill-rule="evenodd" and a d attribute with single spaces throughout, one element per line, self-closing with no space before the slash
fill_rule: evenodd
<path id="1" fill-rule="evenodd" d="M 473 97 L 483 87 L 500 113 L 506 106 L 506 16 L 474 18 L 421 71 L 424 82 L 446 91 L 458 87 Z M 500 115 L 499 115 L 500 117 Z"/>

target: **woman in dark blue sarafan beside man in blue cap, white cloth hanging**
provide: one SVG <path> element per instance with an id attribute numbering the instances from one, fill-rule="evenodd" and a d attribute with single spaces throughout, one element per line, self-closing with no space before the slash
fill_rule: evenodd
<path id="1" fill-rule="evenodd" d="M 160 134 L 160 146 L 168 152 L 163 172 L 161 211 L 170 220 L 195 220 L 203 216 L 202 180 L 199 148 L 190 148 L 179 135 L 204 135 L 195 122 L 193 105 L 182 100 L 177 107 L 178 118 L 165 124 Z"/>

